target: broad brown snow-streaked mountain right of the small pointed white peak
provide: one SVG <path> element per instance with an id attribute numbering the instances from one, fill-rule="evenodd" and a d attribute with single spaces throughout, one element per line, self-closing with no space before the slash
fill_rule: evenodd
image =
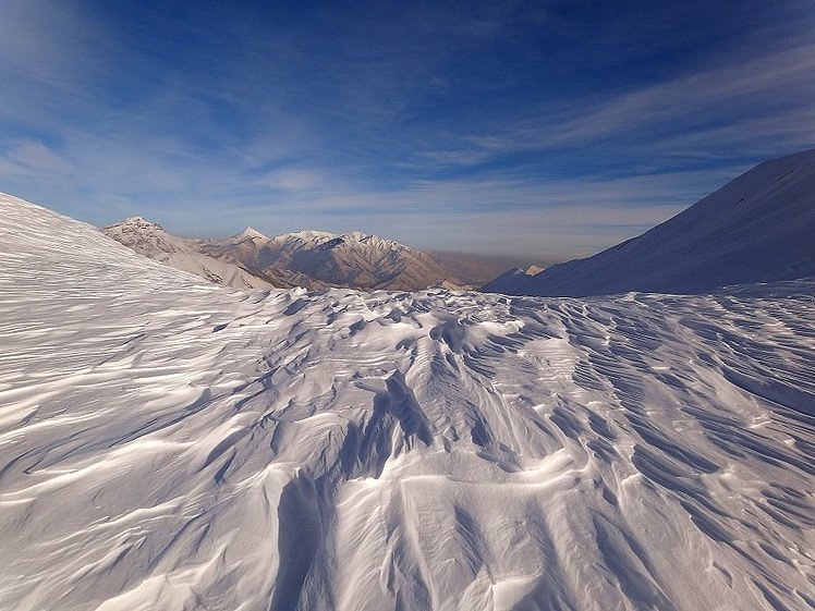
<path id="1" fill-rule="evenodd" d="M 360 232 L 299 231 L 267 242 L 257 269 L 290 269 L 333 286 L 421 290 L 458 282 L 430 254 Z"/>

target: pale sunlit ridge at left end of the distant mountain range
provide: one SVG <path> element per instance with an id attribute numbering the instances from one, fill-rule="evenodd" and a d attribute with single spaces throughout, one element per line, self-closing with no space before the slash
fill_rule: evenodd
<path id="1" fill-rule="evenodd" d="M 199 241 L 172 235 L 142 217 L 131 217 L 106 227 L 102 232 L 117 242 L 151 259 L 206 278 L 216 284 L 235 289 L 268 289 L 272 283 L 235 261 L 220 260 L 203 254 Z M 247 240 L 251 241 L 251 237 Z"/>

